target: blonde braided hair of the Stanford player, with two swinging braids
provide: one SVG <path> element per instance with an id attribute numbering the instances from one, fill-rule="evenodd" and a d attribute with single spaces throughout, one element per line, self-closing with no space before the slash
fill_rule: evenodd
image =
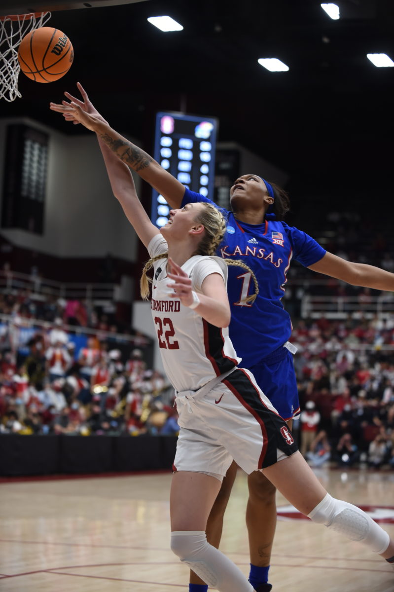
<path id="1" fill-rule="evenodd" d="M 224 215 L 221 211 L 218 210 L 214 205 L 200 202 L 205 207 L 196 215 L 196 222 L 199 222 L 204 226 L 205 233 L 202 240 L 199 242 L 198 247 L 196 249 L 195 255 L 207 255 L 212 256 L 215 255 L 219 244 L 222 242 L 227 222 L 225 221 Z M 152 279 L 148 278 L 147 271 L 151 268 L 153 263 L 158 259 L 166 259 L 168 257 L 168 253 L 163 253 L 162 255 L 156 255 L 152 259 L 149 259 L 142 271 L 141 279 L 140 279 L 140 291 L 141 297 L 144 300 L 148 300 L 149 297 L 149 284 L 152 283 Z M 259 294 L 259 284 L 257 282 L 256 275 L 254 275 L 253 271 L 244 263 L 238 259 L 223 259 L 227 266 L 229 265 L 236 265 L 245 269 L 248 273 L 250 273 L 253 283 L 254 283 L 254 294 L 251 294 L 245 299 L 246 303 L 254 303 L 256 300 L 257 294 Z"/>

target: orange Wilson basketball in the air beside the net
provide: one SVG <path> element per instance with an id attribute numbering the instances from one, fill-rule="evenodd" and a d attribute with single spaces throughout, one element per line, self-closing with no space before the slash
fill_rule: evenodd
<path id="1" fill-rule="evenodd" d="M 18 49 L 25 76 L 35 82 L 53 82 L 66 74 L 74 59 L 69 38 L 59 29 L 40 27 L 28 33 Z"/>

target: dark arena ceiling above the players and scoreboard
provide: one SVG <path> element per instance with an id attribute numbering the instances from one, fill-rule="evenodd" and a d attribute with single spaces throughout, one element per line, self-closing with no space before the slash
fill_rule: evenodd
<path id="1" fill-rule="evenodd" d="M 388 204 L 394 67 L 377 68 L 366 54 L 394 59 L 394 1 L 336 4 L 337 21 L 318 0 L 148 0 L 53 11 L 47 26 L 64 31 L 75 50 L 70 71 L 50 84 L 21 74 L 22 98 L 1 100 L 0 116 L 81 133 L 48 108 L 80 81 L 112 127 L 147 150 L 155 110 L 216 115 L 219 140 L 286 170 L 298 194 L 343 202 L 346 192 L 360 192 L 376 205 L 376 192 L 385 192 Z M 162 33 L 147 22 L 160 14 L 184 30 Z M 268 72 L 260 57 L 279 57 L 290 70 Z"/>

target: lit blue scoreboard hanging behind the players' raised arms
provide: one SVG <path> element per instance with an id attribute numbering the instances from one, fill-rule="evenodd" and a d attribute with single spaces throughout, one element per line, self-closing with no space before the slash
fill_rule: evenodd
<path id="1" fill-rule="evenodd" d="M 156 114 L 154 159 L 180 183 L 209 199 L 214 197 L 215 147 L 218 121 L 172 112 Z M 162 227 L 170 207 L 152 190 L 151 221 Z"/>

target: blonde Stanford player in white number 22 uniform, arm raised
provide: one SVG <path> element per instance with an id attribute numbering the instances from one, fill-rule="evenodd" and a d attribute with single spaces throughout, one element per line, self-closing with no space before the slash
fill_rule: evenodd
<path id="1" fill-rule="evenodd" d="M 219 592 L 253 592 L 242 572 L 205 536 L 209 511 L 234 458 L 248 474 L 261 470 L 314 522 L 394 564 L 394 540 L 359 508 L 325 491 L 253 375 L 237 366 L 240 360 L 227 334 L 227 268 L 211 256 L 225 231 L 222 215 L 209 204 L 188 204 L 172 210 L 160 231 L 153 226 L 125 164 L 130 143 L 80 91 L 84 102 L 67 95 L 70 104 L 51 108 L 98 136 L 114 195 L 151 256 L 141 278 L 144 297 L 146 271 L 154 266 L 151 308 L 163 363 L 176 389 L 180 424 L 170 493 L 173 552 Z"/>

